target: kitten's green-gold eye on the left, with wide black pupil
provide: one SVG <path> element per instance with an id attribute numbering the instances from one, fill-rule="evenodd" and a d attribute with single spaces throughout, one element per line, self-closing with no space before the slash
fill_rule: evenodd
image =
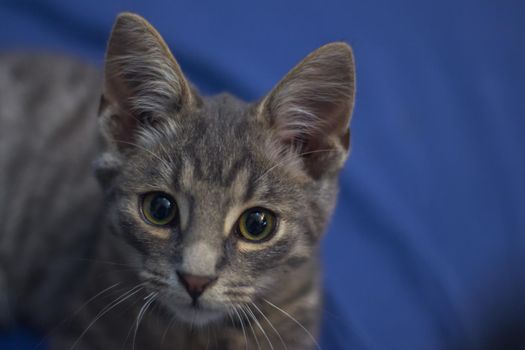
<path id="1" fill-rule="evenodd" d="M 177 212 L 177 203 L 166 193 L 146 193 L 142 198 L 142 213 L 148 224 L 169 225 L 177 217 Z"/>

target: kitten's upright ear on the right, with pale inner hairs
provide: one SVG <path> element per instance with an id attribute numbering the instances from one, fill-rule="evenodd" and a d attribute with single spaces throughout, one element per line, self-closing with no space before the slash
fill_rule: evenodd
<path id="1" fill-rule="evenodd" d="M 315 178 L 342 167 L 354 106 L 352 49 L 331 43 L 308 55 L 259 105 L 258 117 Z"/>

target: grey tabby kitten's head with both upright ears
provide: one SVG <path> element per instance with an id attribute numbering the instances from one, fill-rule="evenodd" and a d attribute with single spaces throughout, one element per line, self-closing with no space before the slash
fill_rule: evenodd
<path id="1" fill-rule="evenodd" d="M 97 174 L 110 226 L 179 320 L 220 319 L 313 273 L 349 151 L 354 85 L 350 47 L 332 43 L 259 102 L 201 97 L 146 20 L 117 18 Z"/>

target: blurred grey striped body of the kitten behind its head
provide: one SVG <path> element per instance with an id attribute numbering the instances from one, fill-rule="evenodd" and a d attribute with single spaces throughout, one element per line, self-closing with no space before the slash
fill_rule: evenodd
<path id="1" fill-rule="evenodd" d="M 71 59 L 0 57 L 2 316 L 49 323 L 86 264 L 102 199 L 90 169 L 100 85 Z"/>

